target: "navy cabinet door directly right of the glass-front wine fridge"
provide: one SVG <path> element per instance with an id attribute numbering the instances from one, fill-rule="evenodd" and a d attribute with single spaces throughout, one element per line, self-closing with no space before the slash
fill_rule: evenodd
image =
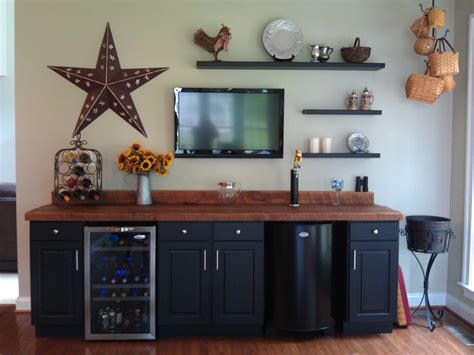
<path id="1" fill-rule="evenodd" d="M 160 325 L 209 324 L 210 242 L 160 242 Z"/>

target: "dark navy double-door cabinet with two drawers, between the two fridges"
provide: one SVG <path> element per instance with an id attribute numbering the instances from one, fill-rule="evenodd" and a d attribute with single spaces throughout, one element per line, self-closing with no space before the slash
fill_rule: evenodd
<path id="1" fill-rule="evenodd" d="M 158 239 L 160 336 L 263 330 L 263 223 L 158 223 Z"/>

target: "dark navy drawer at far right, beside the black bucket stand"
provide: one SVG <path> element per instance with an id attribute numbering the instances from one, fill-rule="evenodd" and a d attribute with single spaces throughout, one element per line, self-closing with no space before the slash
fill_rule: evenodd
<path id="1" fill-rule="evenodd" d="M 377 241 L 398 240 L 398 222 L 351 222 L 349 223 L 349 239 Z"/>

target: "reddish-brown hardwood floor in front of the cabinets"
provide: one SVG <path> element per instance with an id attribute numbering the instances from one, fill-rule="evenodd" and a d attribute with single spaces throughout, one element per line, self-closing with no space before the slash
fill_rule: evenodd
<path id="1" fill-rule="evenodd" d="M 458 321 L 450 317 L 449 321 Z M 458 321 L 459 322 L 459 321 Z M 50 354 L 474 354 L 444 328 L 411 326 L 392 334 L 312 338 L 174 338 L 154 342 L 86 342 L 80 339 L 36 338 L 30 314 L 0 306 L 1 355 Z"/>

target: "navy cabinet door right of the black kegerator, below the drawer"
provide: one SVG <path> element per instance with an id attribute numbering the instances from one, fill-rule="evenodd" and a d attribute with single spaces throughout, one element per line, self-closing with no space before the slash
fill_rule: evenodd
<path id="1" fill-rule="evenodd" d="M 350 322 L 392 322 L 396 315 L 398 242 L 351 242 Z"/>

